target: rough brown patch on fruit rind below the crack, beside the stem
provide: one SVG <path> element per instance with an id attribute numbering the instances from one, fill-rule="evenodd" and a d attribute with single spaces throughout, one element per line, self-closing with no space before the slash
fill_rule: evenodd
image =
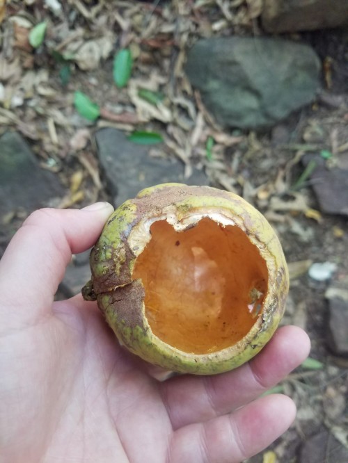
<path id="1" fill-rule="evenodd" d="M 140 279 L 110 291 L 108 307 L 102 307 L 100 303 L 102 297 L 103 295 L 100 295 L 97 298 L 100 309 L 103 312 L 105 310 L 110 312 L 112 308 L 114 313 L 117 314 L 118 324 L 128 328 L 141 327 L 145 330 L 143 323 L 145 289 Z"/>

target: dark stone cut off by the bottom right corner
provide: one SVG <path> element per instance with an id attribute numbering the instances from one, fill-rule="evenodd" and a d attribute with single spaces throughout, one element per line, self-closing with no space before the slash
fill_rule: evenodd
<path id="1" fill-rule="evenodd" d="M 325 455 L 330 455 L 326 460 Z M 319 432 L 306 439 L 300 451 L 299 463 L 319 463 L 331 461 L 335 463 L 348 462 L 348 450 L 328 431 Z"/>

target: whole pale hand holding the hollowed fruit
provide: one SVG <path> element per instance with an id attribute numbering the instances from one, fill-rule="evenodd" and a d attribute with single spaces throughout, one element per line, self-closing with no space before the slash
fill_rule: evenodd
<path id="1" fill-rule="evenodd" d="M 112 212 L 43 209 L 0 261 L 0 462 L 237 463 L 292 424 L 295 406 L 267 389 L 308 355 L 282 327 L 251 362 L 212 377 L 158 382 L 118 346 L 95 302 L 54 302 L 65 266 Z"/>

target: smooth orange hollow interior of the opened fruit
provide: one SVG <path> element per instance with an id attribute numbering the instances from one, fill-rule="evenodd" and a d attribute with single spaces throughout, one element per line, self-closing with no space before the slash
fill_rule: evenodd
<path id="1" fill-rule="evenodd" d="M 246 233 L 209 218 L 176 232 L 159 220 L 136 259 L 145 316 L 161 341 L 194 354 L 232 346 L 254 325 L 267 293 L 267 266 Z"/>

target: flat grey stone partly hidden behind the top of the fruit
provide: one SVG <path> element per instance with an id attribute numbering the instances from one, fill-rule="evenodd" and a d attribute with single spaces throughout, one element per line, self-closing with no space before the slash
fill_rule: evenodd
<path id="1" fill-rule="evenodd" d="M 135 197 L 148 186 L 166 182 L 188 185 L 207 185 L 204 172 L 193 169 L 191 177 L 184 178 L 184 165 L 177 159 L 159 159 L 149 156 L 149 146 L 137 145 L 125 133 L 113 128 L 95 133 L 100 165 L 115 206 Z"/>

